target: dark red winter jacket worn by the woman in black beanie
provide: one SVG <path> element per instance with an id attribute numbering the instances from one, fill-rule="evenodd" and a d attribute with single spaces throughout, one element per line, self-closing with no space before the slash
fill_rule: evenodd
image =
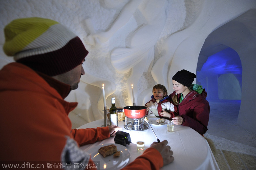
<path id="1" fill-rule="evenodd" d="M 175 95 L 172 92 L 170 97 Z M 178 94 L 178 101 L 180 101 L 181 94 Z M 182 125 L 188 126 L 198 133 L 203 135 L 207 131 L 209 121 L 210 105 L 205 99 L 207 93 L 205 89 L 201 94 L 192 90 L 185 98 L 178 104 L 178 113 L 183 118 Z"/>

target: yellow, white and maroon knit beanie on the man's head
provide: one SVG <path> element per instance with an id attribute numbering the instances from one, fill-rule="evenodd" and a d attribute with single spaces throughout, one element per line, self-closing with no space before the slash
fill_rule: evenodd
<path id="1" fill-rule="evenodd" d="M 4 28 L 4 35 L 7 56 L 49 76 L 72 70 L 88 54 L 79 37 L 51 19 L 15 19 Z"/>

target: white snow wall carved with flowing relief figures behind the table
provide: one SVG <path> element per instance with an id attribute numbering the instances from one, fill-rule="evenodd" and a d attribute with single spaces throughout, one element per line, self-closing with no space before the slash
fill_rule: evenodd
<path id="1" fill-rule="evenodd" d="M 2 0 L 3 28 L 11 20 L 43 17 L 66 25 L 78 35 L 89 55 L 85 75 L 68 101 L 79 102 L 70 114 L 74 125 L 103 118 L 102 84 L 107 106 L 144 105 L 152 87 L 172 92 L 172 76 L 181 69 L 196 73 L 205 38 L 217 27 L 255 8 L 254 0 Z M 12 62 L 1 48 L 0 67 Z"/>

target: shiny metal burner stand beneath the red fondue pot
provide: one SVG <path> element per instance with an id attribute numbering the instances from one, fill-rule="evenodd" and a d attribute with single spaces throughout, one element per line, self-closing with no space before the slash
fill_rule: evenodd
<path id="1" fill-rule="evenodd" d="M 132 119 L 125 116 L 124 128 L 127 130 L 142 131 L 148 129 L 148 123 L 144 121 L 144 118 Z M 129 119 L 129 120 L 127 120 Z M 133 121 L 131 121 L 133 120 Z"/>

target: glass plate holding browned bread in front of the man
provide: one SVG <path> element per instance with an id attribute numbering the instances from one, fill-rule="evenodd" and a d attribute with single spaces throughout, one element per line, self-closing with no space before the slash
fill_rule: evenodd
<path id="1" fill-rule="evenodd" d="M 105 158 L 99 153 L 99 149 L 103 146 L 108 146 L 114 144 L 116 145 L 117 151 L 120 151 L 119 157 L 113 157 L 113 155 L 109 155 Z M 130 160 L 130 151 L 123 145 L 116 143 L 106 143 L 99 146 L 96 146 L 87 151 L 90 153 L 93 161 L 100 161 L 100 169 L 121 169 L 126 166 Z"/>

